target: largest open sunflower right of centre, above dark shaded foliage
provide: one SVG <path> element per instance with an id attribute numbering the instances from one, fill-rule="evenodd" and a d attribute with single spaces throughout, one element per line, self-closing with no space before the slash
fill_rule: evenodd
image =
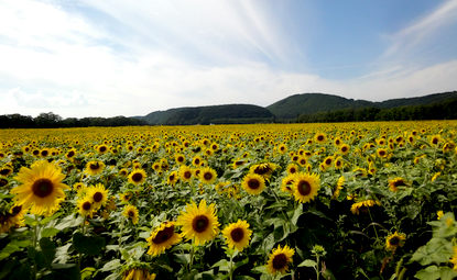
<path id="1" fill-rule="evenodd" d="M 298 172 L 293 184 L 295 200 L 301 203 L 309 202 L 317 195 L 319 188 L 320 178 L 318 175 Z"/>

